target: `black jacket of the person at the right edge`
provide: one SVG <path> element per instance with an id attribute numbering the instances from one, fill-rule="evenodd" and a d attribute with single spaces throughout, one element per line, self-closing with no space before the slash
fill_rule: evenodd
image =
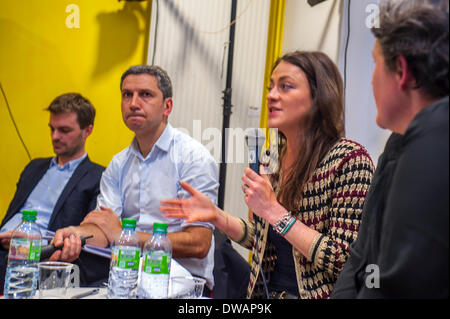
<path id="1" fill-rule="evenodd" d="M 334 299 L 448 299 L 449 99 L 420 111 L 380 156 Z"/>

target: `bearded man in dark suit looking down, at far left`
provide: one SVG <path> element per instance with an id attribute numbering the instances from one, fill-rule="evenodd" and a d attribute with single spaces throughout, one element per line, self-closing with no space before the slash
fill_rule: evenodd
<path id="1" fill-rule="evenodd" d="M 20 175 L 16 193 L 0 226 L 0 293 L 11 234 L 21 221 L 22 210 L 38 211 L 36 223 L 44 234 L 46 230 L 55 232 L 79 225 L 96 206 L 104 167 L 91 162 L 85 151 L 86 139 L 93 129 L 94 107 L 80 94 L 68 93 L 57 97 L 47 110 L 56 157 L 34 159 Z M 56 251 L 50 260 L 77 264 L 82 285 L 105 281 L 109 260 L 73 251 L 73 247 L 80 247 L 73 244 L 77 242 L 80 242 L 79 236 L 66 238 L 64 248 Z"/>

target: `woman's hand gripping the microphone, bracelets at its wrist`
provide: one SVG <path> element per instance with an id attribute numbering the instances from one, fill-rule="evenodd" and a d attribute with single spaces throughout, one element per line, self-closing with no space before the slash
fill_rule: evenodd
<path id="1" fill-rule="evenodd" d="M 278 211 L 282 207 L 278 203 L 269 178 L 264 174 L 263 165 L 260 166 L 260 172 L 261 175 L 258 175 L 250 168 L 245 169 L 244 176 L 242 176 L 244 201 L 253 213 L 272 224 L 273 217 L 276 221 L 279 215 Z M 274 212 L 277 213 L 274 214 Z"/>

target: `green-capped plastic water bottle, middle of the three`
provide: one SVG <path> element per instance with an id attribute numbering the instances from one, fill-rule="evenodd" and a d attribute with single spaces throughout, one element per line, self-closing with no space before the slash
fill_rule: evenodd
<path id="1" fill-rule="evenodd" d="M 122 219 L 122 231 L 114 240 L 111 249 L 108 298 L 136 298 L 141 242 L 135 229 L 135 219 Z"/>

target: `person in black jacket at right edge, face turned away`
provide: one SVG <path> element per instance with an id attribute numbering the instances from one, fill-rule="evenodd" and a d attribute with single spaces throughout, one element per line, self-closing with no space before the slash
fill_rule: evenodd
<path id="1" fill-rule="evenodd" d="M 381 3 L 372 85 L 393 133 L 332 298 L 448 298 L 448 6 Z"/>

